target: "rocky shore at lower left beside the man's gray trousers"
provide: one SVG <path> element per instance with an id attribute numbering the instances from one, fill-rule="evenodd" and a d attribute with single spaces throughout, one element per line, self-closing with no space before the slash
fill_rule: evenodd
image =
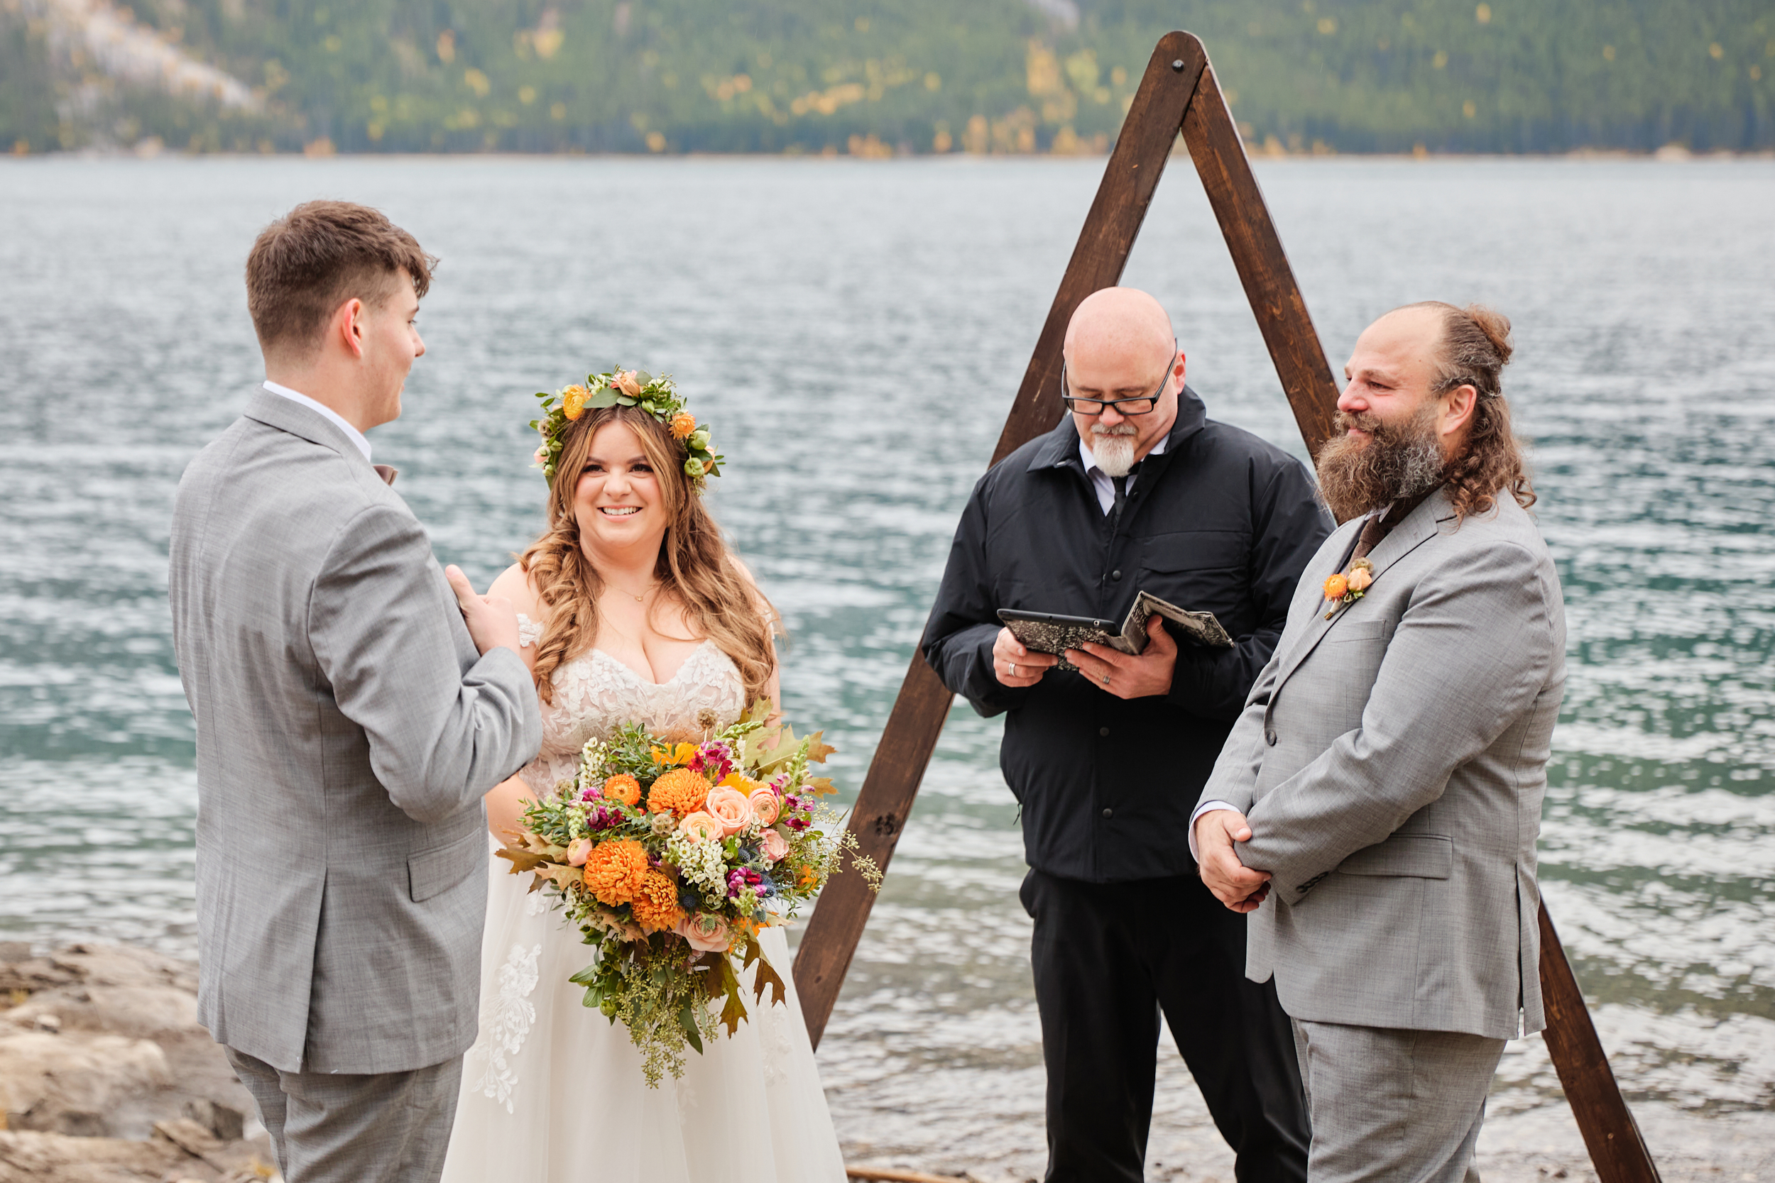
<path id="1" fill-rule="evenodd" d="M 0 1183 L 275 1179 L 270 1139 L 197 1022 L 197 967 L 0 942 Z"/>

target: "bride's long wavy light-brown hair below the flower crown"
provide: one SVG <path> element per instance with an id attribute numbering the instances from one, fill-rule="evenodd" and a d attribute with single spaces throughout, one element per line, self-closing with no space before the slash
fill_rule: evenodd
<path id="1" fill-rule="evenodd" d="M 738 667 L 746 701 L 756 702 L 776 672 L 770 646 L 770 633 L 779 623 L 776 608 L 740 571 L 715 520 L 703 507 L 683 472 L 683 445 L 671 438 L 666 424 L 634 406 L 605 406 L 566 424 L 561 458 L 548 484 L 548 529 L 518 557 L 545 615 L 536 646 L 536 692 L 543 702 L 554 702 L 552 674 L 591 649 L 598 635 L 604 580 L 580 546 L 573 490 L 593 436 L 611 422 L 628 424 L 641 440 L 666 502 L 669 525 L 653 576 L 678 598 L 690 624 Z"/>

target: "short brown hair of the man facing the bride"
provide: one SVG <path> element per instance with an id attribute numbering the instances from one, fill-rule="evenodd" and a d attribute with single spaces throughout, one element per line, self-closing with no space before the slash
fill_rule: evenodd
<path id="1" fill-rule="evenodd" d="M 334 309 L 351 298 L 382 305 L 405 271 L 431 287 L 437 259 L 380 209 L 311 200 L 264 227 L 247 255 L 247 312 L 259 348 L 307 351 Z"/>

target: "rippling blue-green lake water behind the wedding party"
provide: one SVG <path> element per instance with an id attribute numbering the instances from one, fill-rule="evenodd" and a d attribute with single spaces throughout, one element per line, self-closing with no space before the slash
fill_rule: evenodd
<path id="1" fill-rule="evenodd" d="M 165 605 L 190 456 L 261 378 L 241 266 L 309 197 L 442 257 L 376 459 L 485 585 L 541 521 L 532 390 L 676 374 L 788 623 L 785 704 L 854 793 L 1102 161 L 0 163 L 0 938 L 193 952 L 192 722 Z M 1337 369 L 1484 300 L 1535 442 L 1571 681 L 1542 881 L 1667 1179 L 1775 1178 L 1775 161 L 1260 161 Z M 1187 160 L 1125 282 L 1211 415 L 1296 454 Z M 1035 1178 L 1042 1068 L 999 724 L 951 713 L 820 1048 L 852 1162 Z M 1163 1057 L 1150 1178 L 1230 1179 Z M 1539 1039 L 1487 1178 L 1589 1165 Z"/>

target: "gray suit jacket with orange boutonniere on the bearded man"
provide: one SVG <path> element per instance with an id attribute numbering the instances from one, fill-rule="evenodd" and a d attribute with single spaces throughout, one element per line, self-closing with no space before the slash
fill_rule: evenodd
<path id="1" fill-rule="evenodd" d="M 1544 1027 L 1535 837 L 1566 688 L 1566 610 L 1546 543 L 1509 497 L 1457 523 L 1436 491 L 1369 559 L 1329 621 L 1314 557 L 1202 802 L 1251 823 L 1269 871 L 1246 975 L 1299 1020 L 1459 1030 Z"/>

